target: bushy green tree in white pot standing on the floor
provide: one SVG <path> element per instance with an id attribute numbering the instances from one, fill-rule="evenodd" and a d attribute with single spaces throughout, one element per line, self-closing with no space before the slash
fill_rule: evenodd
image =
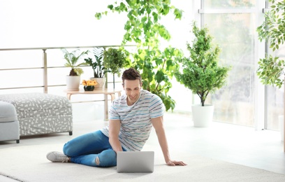
<path id="1" fill-rule="evenodd" d="M 200 104 L 192 106 L 193 123 L 195 127 L 207 127 L 212 121 L 214 106 L 205 104 L 205 100 L 226 83 L 230 67 L 218 65 L 220 49 L 213 45 L 207 28 L 199 29 L 195 22 L 192 27 L 194 39 L 192 44 L 187 43 L 190 55 L 179 60 L 182 70 L 175 71 L 175 78 L 200 97 Z"/>

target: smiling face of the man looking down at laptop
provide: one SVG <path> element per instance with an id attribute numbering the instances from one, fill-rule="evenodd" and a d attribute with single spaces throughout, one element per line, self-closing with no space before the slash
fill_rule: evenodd
<path id="1" fill-rule="evenodd" d="M 128 104 L 134 104 L 140 97 L 140 89 L 142 87 L 140 80 L 124 80 L 123 87 L 126 92 Z"/>

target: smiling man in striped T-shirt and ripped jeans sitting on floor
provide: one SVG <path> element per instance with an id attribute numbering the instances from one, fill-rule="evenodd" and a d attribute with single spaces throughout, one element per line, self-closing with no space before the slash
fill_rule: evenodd
<path id="1" fill-rule="evenodd" d="M 161 99 L 141 89 L 142 78 L 135 69 L 124 71 L 122 82 L 126 94 L 112 102 L 108 127 L 68 141 L 64 145 L 64 153 L 47 153 L 48 160 L 94 167 L 116 166 L 117 151 L 141 151 L 153 126 L 166 164 L 186 165 L 170 158 L 163 129 L 164 105 Z"/>

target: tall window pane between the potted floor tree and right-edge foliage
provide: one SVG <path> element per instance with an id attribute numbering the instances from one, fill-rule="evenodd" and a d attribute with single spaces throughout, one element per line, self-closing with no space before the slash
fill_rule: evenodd
<path id="1" fill-rule="evenodd" d="M 211 96 L 214 120 L 253 127 L 254 1 L 203 1 L 200 12 L 202 26 L 221 48 L 220 63 L 232 66 L 227 85 Z"/>

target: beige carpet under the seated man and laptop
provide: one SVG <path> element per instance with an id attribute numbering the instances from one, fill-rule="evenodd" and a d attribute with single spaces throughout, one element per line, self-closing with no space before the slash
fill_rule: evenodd
<path id="1" fill-rule="evenodd" d="M 14 146 L 14 145 L 13 145 Z M 17 146 L 0 150 L 0 174 L 18 181 L 285 181 L 285 175 L 180 153 L 186 167 L 164 165 L 161 151 L 155 151 L 154 172 L 118 174 L 115 167 L 96 168 L 71 163 L 49 162 L 49 151 L 61 151 L 62 144 Z M 145 151 L 153 150 L 146 146 Z M 159 149 L 159 148 L 158 148 Z M 178 153 L 173 153 L 177 155 Z"/>

